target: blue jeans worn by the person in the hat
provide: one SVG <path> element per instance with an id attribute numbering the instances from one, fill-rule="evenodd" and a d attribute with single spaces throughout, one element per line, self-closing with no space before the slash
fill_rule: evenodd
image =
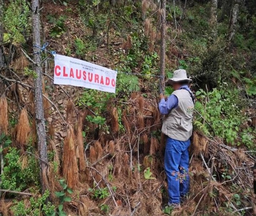
<path id="1" fill-rule="evenodd" d="M 164 155 L 164 168 L 168 180 L 170 203 L 180 203 L 180 197 L 188 193 L 188 147 L 190 140 L 179 141 L 167 137 Z"/>

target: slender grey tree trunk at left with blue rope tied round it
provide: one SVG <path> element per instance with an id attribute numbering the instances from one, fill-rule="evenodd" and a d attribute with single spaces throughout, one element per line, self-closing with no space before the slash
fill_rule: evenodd
<path id="1" fill-rule="evenodd" d="M 33 44 L 34 46 L 40 47 L 40 7 L 39 0 L 32 0 L 32 22 L 33 22 Z M 45 135 L 45 118 L 43 110 L 43 90 L 42 90 L 42 67 L 40 65 L 41 54 L 40 49 L 37 47 L 33 48 L 34 53 L 34 69 L 37 74 L 37 77 L 34 80 L 35 88 L 35 122 L 36 122 L 36 131 L 38 137 L 38 152 L 40 160 L 40 179 L 42 185 L 42 194 L 45 193 L 45 190 L 48 189 L 48 180 L 47 180 L 47 166 L 48 166 L 48 157 L 47 157 L 47 145 L 46 145 L 46 135 Z"/>

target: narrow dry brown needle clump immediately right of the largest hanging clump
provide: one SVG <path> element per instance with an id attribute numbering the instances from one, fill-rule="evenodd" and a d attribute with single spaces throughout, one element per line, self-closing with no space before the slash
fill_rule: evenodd
<path id="1" fill-rule="evenodd" d="M 78 158 L 79 171 L 85 171 L 85 156 L 84 156 L 84 147 L 83 147 L 83 135 L 82 135 L 82 127 L 78 126 L 78 130 L 76 133 L 76 157 Z"/>

